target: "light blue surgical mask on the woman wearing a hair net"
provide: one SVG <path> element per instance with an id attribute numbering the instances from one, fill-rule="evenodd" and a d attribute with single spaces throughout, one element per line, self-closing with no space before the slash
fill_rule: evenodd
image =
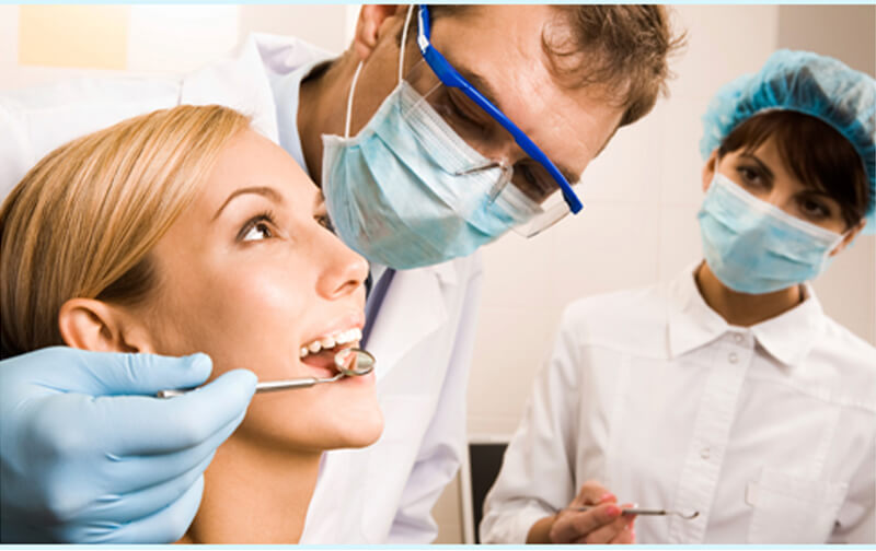
<path id="1" fill-rule="evenodd" d="M 843 239 L 761 201 L 717 166 L 699 219 L 708 268 L 740 293 L 764 294 L 815 279 Z"/>

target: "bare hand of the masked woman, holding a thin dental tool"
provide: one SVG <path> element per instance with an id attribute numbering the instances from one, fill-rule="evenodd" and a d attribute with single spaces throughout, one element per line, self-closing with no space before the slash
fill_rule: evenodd
<path id="1" fill-rule="evenodd" d="M 591 506 L 588 511 L 575 507 Z M 630 506 L 630 505 L 625 505 Z M 567 508 L 535 523 L 530 542 L 550 543 L 635 543 L 634 516 L 621 515 L 618 499 L 593 480 L 581 484 Z M 541 541 L 539 541 L 541 540 Z"/>

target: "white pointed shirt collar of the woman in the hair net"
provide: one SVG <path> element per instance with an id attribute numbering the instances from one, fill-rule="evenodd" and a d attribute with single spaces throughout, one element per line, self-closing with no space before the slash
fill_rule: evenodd
<path id="1" fill-rule="evenodd" d="M 825 312 L 809 284 L 804 284 L 806 298 L 794 308 L 742 328 L 727 324 L 706 304 L 694 280 L 700 262 L 685 268 L 670 282 L 668 347 L 672 357 L 708 344 L 724 333 L 750 331 L 766 352 L 785 365 L 799 365 L 811 351 L 825 327 Z"/>

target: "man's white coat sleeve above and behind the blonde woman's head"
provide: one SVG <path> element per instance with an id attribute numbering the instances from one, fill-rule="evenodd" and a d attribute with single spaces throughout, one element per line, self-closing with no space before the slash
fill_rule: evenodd
<path id="1" fill-rule="evenodd" d="M 180 81 L 79 78 L 0 92 L 0 194 L 5 198 L 59 145 L 126 118 L 177 104 Z"/>

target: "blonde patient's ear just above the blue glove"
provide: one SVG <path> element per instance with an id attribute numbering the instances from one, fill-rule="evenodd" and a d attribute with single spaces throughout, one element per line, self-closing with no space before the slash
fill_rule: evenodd
<path id="1" fill-rule="evenodd" d="M 92 298 L 70 298 L 58 314 L 68 347 L 95 352 L 153 352 L 146 328 L 129 313 Z"/>

